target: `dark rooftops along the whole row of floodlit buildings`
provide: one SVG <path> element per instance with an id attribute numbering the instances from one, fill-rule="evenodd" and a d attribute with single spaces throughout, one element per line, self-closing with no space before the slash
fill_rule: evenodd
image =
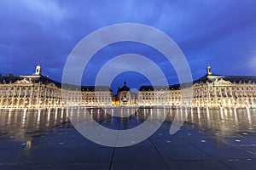
<path id="1" fill-rule="evenodd" d="M 75 85 L 75 84 L 69 84 L 69 83 L 62 83 L 62 82 L 57 82 L 55 80 L 52 80 L 49 78 L 49 76 L 44 76 L 41 74 L 41 66 L 37 65 L 36 66 L 36 72 L 32 73 L 31 75 L 20 75 L 20 76 L 15 76 L 11 73 L 8 75 L 2 75 L 0 74 L 0 83 L 12 83 L 16 82 L 20 79 L 27 79 L 30 82 L 33 83 L 43 83 L 43 84 L 49 84 L 49 83 L 54 83 L 56 87 L 62 88 L 62 89 L 70 89 L 70 90 L 81 90 L 81 91 L 95 91 L 95 88 L 97 91 L 112 91 L 113 90 L 107 86 L 107 85 L 101 85 L 101 86 L 93 86 L 93 85 Z M 207 82 L 214 82 L 216 79 L 221 78 L 224 81 L 230 81 L 232 83 L 255 83 L 256 82 L 256 76 L 223 76 L 223 75 L 218 75 L 212 73 L 212 67 L 210 65 L 207 65 L 207 74 L 204 76 L 196 79 L 193 82 L 187 82 L 187 83 L 177 83 L 177 84 L 172 84 L 172 85 L 143 85 L 141 86 L 138 90 L 139 91 L 154 91 L 157 89 L 165 88 L 167 90 L 177 90 L 180 89 L 181 86 L 183 88 L 188 84 L 189 86 L 195 83 L 207 83 Z M 122 88 L 118 88 L 118 91 L 130 91 L 130 88 L 126 86 L 126 81 L 124 82 L 124 86 Z"/>

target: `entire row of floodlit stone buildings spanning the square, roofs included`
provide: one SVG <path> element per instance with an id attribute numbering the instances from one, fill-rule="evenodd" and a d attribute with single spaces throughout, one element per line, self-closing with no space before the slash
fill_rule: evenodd
<path id="1" fill-rule="evenodd" d="M 193 107 L 256 107 L 256 77 L 221 76 L 207 74 L 193 82 Z M 191 88 L 188 88 L 191 89 Z M 118 94 L 108 86 L 77 86 L 55 82 L 41 75 L 41 66 L 27 76 L 0 76 L 1 108 L 50 108 L 113 105 L 185 105 L 179 84 L 168 87 L 142 86 L 137 94 L 131 93 L 126 82 Z M 62 95 L 64 94 L 64 95 Z"/>

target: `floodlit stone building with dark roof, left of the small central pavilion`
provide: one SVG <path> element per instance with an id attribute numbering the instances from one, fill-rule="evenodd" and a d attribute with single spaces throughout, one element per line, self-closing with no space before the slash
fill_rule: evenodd
<path id="1" fill-rule="evenodd" d="M 0 108 L 51 108 L 65 106 L 113 105 L 107 86 L 76 86 L 55 82 L 41 75 L 41 66 L 32 75 L 0 76 Z"/>

